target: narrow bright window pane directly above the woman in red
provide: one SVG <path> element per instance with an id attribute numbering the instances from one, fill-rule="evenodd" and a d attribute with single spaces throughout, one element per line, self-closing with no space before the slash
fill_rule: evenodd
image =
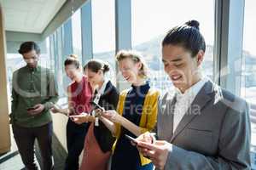
<path id="1" fill-rule="evenodd" d="M 79 61 L 82 63 L 82 37 L 81 37 L 81 10 L 78 9 L 72 15 L 72 39 L 73 39 L 73 54 L 79 56 Z"/>

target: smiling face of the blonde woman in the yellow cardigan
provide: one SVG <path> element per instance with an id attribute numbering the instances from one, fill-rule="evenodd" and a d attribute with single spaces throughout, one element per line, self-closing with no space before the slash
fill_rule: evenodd
<path id="1" fill-rule="evenodd" d="M 132 59 L 126 58 L 119 60 L 119 71 L 127 82 L 131 84 L 136 83 L 139 75 L 140 68 L 142 67 L 141 62 L 135 63 Z"/>

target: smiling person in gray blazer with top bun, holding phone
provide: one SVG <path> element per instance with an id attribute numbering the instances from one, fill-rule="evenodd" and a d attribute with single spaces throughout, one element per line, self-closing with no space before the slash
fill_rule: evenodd
<path id="1" fill-rule="evenodd" d="M 151 133 L 137 138 L 157 169 L 251 169 L 247 102 L 202 76 L 205 50 L 196 20 L 172 28 L 162 42 L 175 88 L 160 99 L 157 140 Z"/>

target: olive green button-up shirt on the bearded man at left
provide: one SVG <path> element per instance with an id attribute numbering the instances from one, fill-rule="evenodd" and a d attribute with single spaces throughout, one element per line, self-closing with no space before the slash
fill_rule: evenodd
<path id="1" fill-rule="evenodd" d="M 49 108 L 58 100 L 54 75 L 49 69 L 25 66 L 15 71 L 12 81 L 11 122 L 21 127 L 40 127 L 52 121 Z M 44 105 L 44 111 L 36 116 L 27 113 L 27 108 Z"/>

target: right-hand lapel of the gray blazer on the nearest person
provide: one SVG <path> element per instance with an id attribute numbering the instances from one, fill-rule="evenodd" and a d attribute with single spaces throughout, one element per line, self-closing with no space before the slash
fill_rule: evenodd
<path id="1" fill-rule="evenodd" d="M 177 128 L 173 133 L 172 139 L 170 141 L 171 143 L 177 137 L 177 135 L 181 133 L 185 127 L 189 125 L 189 122 L 191 122 L 195 118 L 195 116 L 201 114 L 201 111 L 212 99 L 212 86 L 213 84 L 211 81 L 206 82 L 206 84 L 201 88 L 199 93 L 195 96 L 195 99 L 189 106 L 188 111 L 183 116 L 181 122 L 178 123 Z"/>

